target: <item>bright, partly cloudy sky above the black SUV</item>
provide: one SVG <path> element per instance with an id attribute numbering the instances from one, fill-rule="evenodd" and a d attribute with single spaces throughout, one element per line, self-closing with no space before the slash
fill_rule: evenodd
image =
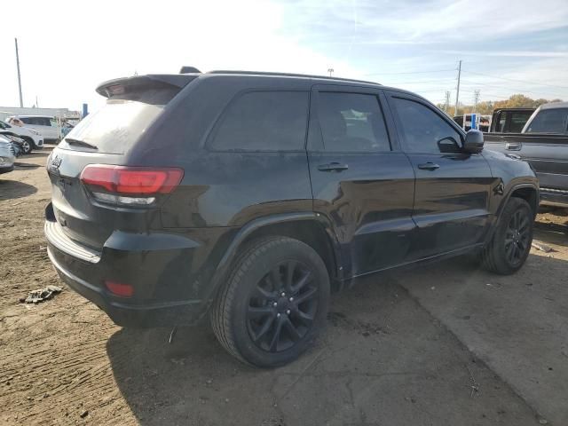
<path id="1" fill-rule="evenodd" d="M 0 31 L 0 106 L 90 110 L 111 78 L 183 65 L 358 78 L 438 103 L 568 100 L 568 0 L 19 0 Z M 5 17 L 4 17 L 5 18 Z"/>

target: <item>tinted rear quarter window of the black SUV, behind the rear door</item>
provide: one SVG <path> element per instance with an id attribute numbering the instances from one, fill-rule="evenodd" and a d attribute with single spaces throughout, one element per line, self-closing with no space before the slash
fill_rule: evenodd
<path id="1" fill-rule="evenodd" d="M 208 146 L 217 151 L 304 149 L 307 91 L 252 91 L 233 99 Z"/>

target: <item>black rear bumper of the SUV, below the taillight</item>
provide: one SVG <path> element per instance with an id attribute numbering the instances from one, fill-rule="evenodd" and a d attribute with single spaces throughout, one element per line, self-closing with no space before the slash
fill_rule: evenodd
<path id="1" fill-rule="evenodd" d="M 115 231 L 101 251 L 69 239 L 46 209 L 48 255 L 60 278 L 123 327 L 192 325 L 207 312 L 211 238 L 202 243 L 170 233 Z M 129 284 L 131 297 L 115 296 L 105 280 Z"/>

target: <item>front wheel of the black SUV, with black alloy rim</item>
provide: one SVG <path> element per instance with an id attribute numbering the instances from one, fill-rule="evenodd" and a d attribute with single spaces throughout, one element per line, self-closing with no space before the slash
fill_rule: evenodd
<path id="1" fill-rule="evenodd" d="M 509 275 L 525 264 L 533 242 L 534 215 L 525 200 L 511 197 L 503 210 L 492 240 L 482 253 L 487 271 Z"/>

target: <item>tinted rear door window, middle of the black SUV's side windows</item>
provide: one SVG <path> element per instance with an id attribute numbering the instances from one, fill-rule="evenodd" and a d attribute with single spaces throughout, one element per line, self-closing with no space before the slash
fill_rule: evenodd
<path id="1" fill-rule="evenodd" d="M 375 95 L 319 92 L 318 118 L 326 151 L 390 151 L 383 112 Z"/>

